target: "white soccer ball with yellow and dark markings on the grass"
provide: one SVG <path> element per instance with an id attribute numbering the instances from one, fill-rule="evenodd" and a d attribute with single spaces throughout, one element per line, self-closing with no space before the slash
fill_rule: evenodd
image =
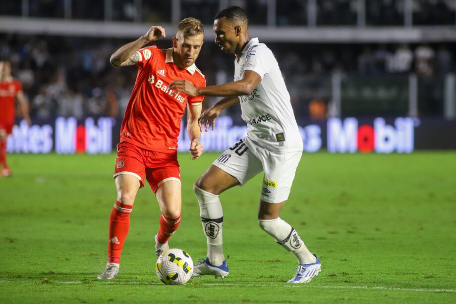
<path id="1" fill-rule="evenodd" d="M 192 277 L 193 260 L 181 249 L 169 249 L 158 257 L 155 272 L 166 285 L 185 284 Z"/>

